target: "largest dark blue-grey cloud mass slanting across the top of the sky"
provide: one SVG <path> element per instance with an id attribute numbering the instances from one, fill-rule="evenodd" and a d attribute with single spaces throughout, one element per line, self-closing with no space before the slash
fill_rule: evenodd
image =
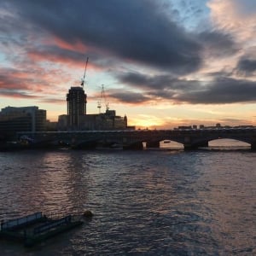
<path id="1" fill-rule="evenodd" d="M 29 20 L 71 44 L 82 41 L 105 53 L 178 73 L 201 65 L 201 44 L 150 0 L 13 0 Z"/>

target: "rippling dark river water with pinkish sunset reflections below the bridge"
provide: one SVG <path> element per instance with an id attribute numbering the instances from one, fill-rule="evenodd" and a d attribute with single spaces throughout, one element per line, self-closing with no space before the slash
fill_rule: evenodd
<path id="1" fill-rule="evenodd" d="M 96 150 L 0 153 L 0 219 L 94 218 L 1 255 L 256 255 L 256 153 Z"/>

